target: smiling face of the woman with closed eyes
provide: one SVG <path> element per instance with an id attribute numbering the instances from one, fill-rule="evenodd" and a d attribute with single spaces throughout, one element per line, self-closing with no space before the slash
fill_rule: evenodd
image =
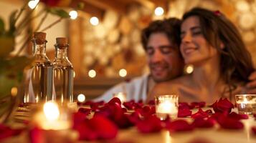
<path id="1" fill-rule="evenodd" d="M 197 16 L 189 16 L 182 22 L 180 48 L 185 63 L 194 66 L 217 56 L 217 49 L 204 38 Z"/>

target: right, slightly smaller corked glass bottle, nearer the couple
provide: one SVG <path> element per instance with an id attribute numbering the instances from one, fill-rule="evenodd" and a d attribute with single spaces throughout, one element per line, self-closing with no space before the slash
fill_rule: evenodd
<path id="1" fill-rule="evenodd" d="M 53 96 L 60 104 L 73 102 L 74 69 L 67 58 L 67 38 L 57 38 L 53 66 Z"/>

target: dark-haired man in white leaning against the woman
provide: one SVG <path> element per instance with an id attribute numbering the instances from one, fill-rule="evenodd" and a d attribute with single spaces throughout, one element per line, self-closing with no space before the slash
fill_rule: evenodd
<path id="1" fill-rule="evenodd" d="M 109 89 L 105 94 L 95 99 L 108 102 L 113 94 L 123 92 L 127 101 L 142 99 L 146 101 L 148 94 L 156 83 L 166 82 L 183 74 L 184 61 L 179 52 L 180 44 L 179 19 L 171 18 L 153 21 L 143 29 L 141 41 L 146 51 L 150 74 L 136 77 L 131 82 L 122 82 Z M 247 93 L 256 93 L 256 72 L 249 77 Z"/>

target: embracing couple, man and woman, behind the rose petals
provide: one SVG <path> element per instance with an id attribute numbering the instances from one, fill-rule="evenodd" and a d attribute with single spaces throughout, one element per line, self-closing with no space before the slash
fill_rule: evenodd
<path id="1" fill-rule="evenodd" d="M 153 21 L 143 29 L 141 40 L 151 74 L 118 84 L 96 100 L 108 101 L 113 93 L 125 92 L 128 100 L 178 94 L 180 102 L 212 103 L 256 93 L 250 53 L 237 28 L 219 11 L 194 8 L 181 21 Z M 184 64 L 194 66 L 192 74 L 182 76 Z"/>

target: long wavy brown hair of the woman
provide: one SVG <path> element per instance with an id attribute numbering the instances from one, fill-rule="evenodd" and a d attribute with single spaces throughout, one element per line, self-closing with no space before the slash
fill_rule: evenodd
<path id="1" fill-rule="evenodd" d="M 248 82 L 249 75 L 254 71 L 252 57 L 242 41 L 240 32 L 219 11 L 194 8 L 184 14 L 182 21 L 191 16 L 199 18 L 204 38 L 221 54 L 219 63 L 221 78 L 228 85 L 231 95 L 236 84 Z M 221 48 L 221 44 L 224 48 Z"/>

